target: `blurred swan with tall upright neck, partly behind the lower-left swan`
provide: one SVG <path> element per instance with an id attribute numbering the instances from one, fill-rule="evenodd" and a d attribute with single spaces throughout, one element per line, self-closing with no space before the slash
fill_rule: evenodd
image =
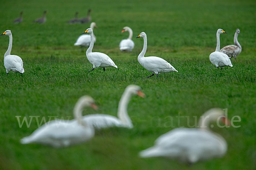
<path id="1" fill-rule="evenodd" d="M 140 90 L 140 86 L 137 85 L 128 85 L 125 88 L 119 101 L 117 117 L 108 114 L 91 114 L 83 116 L 83 121 L 97 129 L 113 126 L 132 128 L 133 124 L 127 113 L 127 105 L 132 95 L 145 96 Z"/>

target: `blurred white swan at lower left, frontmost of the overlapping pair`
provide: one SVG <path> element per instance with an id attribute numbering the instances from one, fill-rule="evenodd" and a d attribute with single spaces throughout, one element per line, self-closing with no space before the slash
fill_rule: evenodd
<path id="1" fill-rule="evenodd" d="M 82 121 L 83 108 L 88 106 L 93 109 L 97 108 L 93 98 L 82 96 L 73 110 L 75 119 L 70 121 L 52 120 L 36 129 L 30 136 L 21 139 L 20 143 L 38 143 L 52 147 L 67 147 L 90 140 L 94 136 L 94 128 Z"/>

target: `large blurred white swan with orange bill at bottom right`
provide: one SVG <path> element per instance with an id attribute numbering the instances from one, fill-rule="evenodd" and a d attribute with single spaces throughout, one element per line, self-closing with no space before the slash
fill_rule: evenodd
<path id="1" fill-rule="evenodd" d="M 167 157 L 189 164 L 222 157 L 227 151 L 227 142 L 208 128 L 210 122 L 220 120 L 226 125 L 230 124 L 222 109 L 212 108 L 201 116 L 200 128 L 180 127 L 171 130 L 161 135 L 153 147 L 141 151 L 140 157 Z"/>

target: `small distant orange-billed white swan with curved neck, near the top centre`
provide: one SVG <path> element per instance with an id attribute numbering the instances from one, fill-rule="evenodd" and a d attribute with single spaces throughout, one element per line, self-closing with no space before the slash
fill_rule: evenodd
<path id="1" fill-rule="evenodd" d="M 120 42 L 119 44 L 119 48 L 121 51 L 132 51 L 132 49 L 134 48 L 134 42 L 133 40 L 131 40 L 132 38 L 132 29 L 128 26 L 124 27 L 123 30 L 122 30 L 122 33 L 125 32 L 125 31 L 128 31 L 129 32 L 129 37 L 128 39 L 124 39 Z"/>

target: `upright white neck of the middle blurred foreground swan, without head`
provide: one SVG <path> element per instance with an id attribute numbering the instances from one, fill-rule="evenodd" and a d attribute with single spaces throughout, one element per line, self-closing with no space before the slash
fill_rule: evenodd
<path id="1" fill-rule="evenodd" d="M 131 98 L 131 92 L 125 90 L 125 92 L 123 93 L 119 101 L 118 112 L 117 112 L 118 118 L 121 120 L 123 125 L 127 127 L 133 127 L 131 119 L 127 113 L 127 106 L 130 101 L 130 98 Z"/>

